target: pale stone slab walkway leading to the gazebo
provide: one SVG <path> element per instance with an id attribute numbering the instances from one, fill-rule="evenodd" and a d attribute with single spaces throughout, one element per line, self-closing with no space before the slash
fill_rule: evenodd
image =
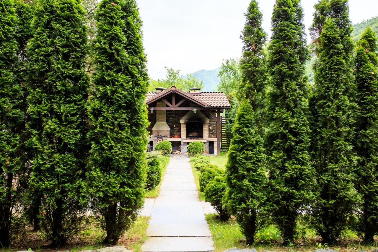
<path id="1" fill-rule="evenodd" d="M 149 238 L 142 251 L 214 250 L 189 157 L 170 158 L 159 197 L 148 204 L 152 206 L 147 228 Z"/>

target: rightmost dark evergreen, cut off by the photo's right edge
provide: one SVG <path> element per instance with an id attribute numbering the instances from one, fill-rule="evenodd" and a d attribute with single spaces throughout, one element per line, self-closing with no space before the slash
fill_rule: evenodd
<path id="1" fill-rule="evenodd" d="M 374 242 L 378 233 L 378 75 L 373 65 L 376 47 L 376 35 L 367 28 L 356 48 L 354 72 L 358 87 L 356 189 L 363 199 L 357 230 L 364 234 L 365 243 Z"/>

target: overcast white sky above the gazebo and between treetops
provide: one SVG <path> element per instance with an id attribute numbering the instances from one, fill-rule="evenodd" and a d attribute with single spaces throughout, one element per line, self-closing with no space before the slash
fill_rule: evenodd
<path id="1" fill-rule="evenodd" d="M 244 13 L 250 0 L 137 0 L 143 20 L 147 67 L 153 79 L 164 78 L 164 67 L 183 75 L 212 70 L 222 59 L 240 57 Z M 270 34 L 275 0 L 260 0 L 263 28 Z M 302 0 L 305 25 L 312 23 L 313 5 Z M 378 16 L 377 0 L 349 0 L 350 19 L 359 23 Z M 308 34 L 308 30 L 306 30 Z"/>

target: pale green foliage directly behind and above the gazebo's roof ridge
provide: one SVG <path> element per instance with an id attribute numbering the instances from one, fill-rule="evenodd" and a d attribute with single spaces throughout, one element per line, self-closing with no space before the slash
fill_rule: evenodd
<path id="1" fill-rule="evenodd" d="M 203 89 L 203 82 L 195 78 L 193 75 L 187 75 L 185 78 L 180 74 L 180 70 L 166 67 L 166 79 L 151 80 L 149 91 L 155 91 L 156 87 L 165 87 L 169 89 L 172 86 L 183 91 L 189 91 L 192 87 Z"/>

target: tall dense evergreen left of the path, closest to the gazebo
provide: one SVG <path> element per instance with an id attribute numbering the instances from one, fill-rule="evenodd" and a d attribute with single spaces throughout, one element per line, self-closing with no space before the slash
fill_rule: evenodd
<path id="1" fill-rule="evenodd" d="M 104 243 L 116 244 L 144 202 L 148 76 L 135 1 L 102 0 L 96 22 L 88 191 Z"/>

